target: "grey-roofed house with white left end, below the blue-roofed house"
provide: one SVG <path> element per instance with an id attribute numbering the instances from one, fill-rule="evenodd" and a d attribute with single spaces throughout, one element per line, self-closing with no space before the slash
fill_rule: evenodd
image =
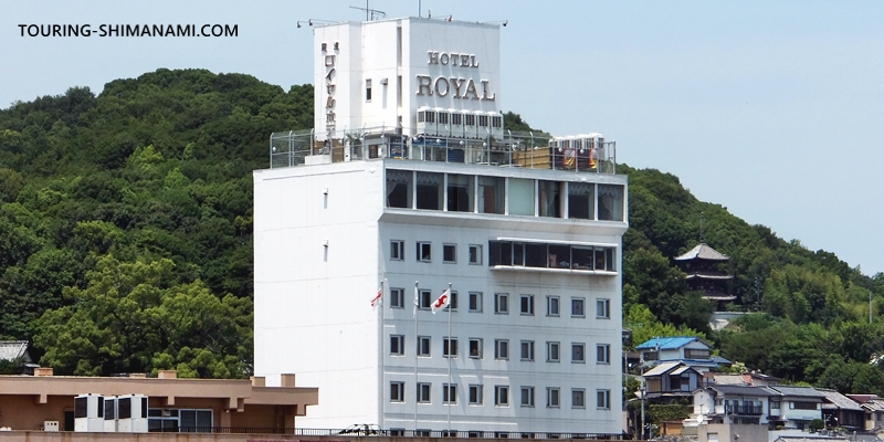
<path id="1" fill-rule="evenodd" d="M 769 399 L 777 396 L 764 387 L 713 385 L 694 391 L 697 423 L 767 424 Z"/>

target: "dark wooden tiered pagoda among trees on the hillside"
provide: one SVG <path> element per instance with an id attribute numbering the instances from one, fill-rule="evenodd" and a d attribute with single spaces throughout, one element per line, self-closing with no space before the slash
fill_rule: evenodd
<path id="1" fill-rule="evenodd" d="M 719 309 L 737 297 L 730 294 L 734 275 L 720 271 L 730 257 L 723 255 L 705 242 L 701 242 L 687 253 L 675 259 L 687 273 L 687 286 L 693 292 L 704 293 L 703 297 L 714 302 Z"/>

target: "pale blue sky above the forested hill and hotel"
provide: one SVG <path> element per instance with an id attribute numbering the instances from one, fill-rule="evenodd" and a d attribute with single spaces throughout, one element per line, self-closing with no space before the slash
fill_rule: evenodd
<path id="1" fill-rule="evenodd" d="M 387 18 L 418 1 L 375 0 Z M 364 1 L 0 0 L 0 108 L 160 67 L 312 83 L 309 27 Z M 884 272 L 884 2 L 422 0 L 425 15 L 509 20 L 498 99 L 556 135 L 678 176 L 786 240 Z M 236 38 L 30 38 L 19 24 L 236 24 Z M 280 128 L 285 129 L 285 128 Z"/>

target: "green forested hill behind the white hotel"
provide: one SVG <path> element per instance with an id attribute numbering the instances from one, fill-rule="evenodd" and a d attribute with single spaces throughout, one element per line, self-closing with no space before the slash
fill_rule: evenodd
<path id="1" fill-rule="evenodd" d="M 312 124 L 309 85 L 201 70 L 0 110 L 0 338 L 32 340 L 59 373 L 248 375 L 251 171 L 267 166 L 271 133 Z M 630 176 L 623 293 L 635 340 L 704 333 L 750 368 L 884 393 L 867 364 L 884 350 L 884 275 L 697 201 L 672 175 L 618 171 Z M 762 312 L 723 333 L 671 261 L 696 244 L 701 218 L 705 241 L 733 257 L 732 308 Z"/>

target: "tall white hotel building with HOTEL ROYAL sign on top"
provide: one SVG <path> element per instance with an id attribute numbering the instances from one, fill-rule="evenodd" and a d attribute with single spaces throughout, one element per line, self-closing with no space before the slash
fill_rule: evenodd
<path id="1" fill-rule="evenodd" d="M 621 434 L 613 144 L 505 130 L 498 25 L 314 35 L 316 129 L 254 172 L 255 375 L 319 388 L 302 428 Z"/>

